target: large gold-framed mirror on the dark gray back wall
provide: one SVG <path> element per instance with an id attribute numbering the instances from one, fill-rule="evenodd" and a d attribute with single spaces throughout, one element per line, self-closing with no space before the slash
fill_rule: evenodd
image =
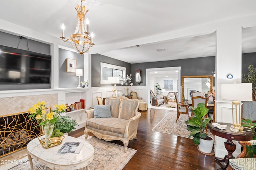
<path id="1" fill-rule="evenodd" d="M 182 76 L 181 101 L 185 102 L 192 98 L 192 92 L 212 92 L 212 76 Z"/>

